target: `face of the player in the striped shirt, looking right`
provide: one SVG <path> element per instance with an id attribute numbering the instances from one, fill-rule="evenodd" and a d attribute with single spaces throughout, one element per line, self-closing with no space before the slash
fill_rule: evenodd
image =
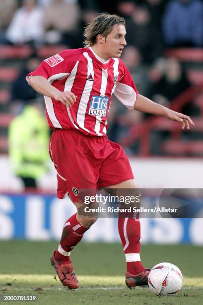
<path id="1" fill-rule="evenodd" d="M 126 43 L 126 28 L 123 24 L 115 24 L 112 31 L 104 40 L 105 55 L 110 57 L 120 57 Z"/>

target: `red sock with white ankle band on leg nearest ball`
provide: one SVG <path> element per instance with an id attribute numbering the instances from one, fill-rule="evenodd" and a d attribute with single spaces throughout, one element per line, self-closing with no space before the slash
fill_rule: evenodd
<path id="1" fill-rule="evenodd" d="M 144 270 L 140 262 L 140 222 L 138 218 L 119 218 L 119 235 L 127 262 L 127 271 L 138 274 Z"/>

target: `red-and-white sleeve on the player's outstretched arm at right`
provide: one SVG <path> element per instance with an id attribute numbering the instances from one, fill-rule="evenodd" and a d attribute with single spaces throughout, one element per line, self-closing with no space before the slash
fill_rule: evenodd
<path id="1" fill-rule="evenodd" d="M 124 104 L 128 109 L 133 110 L 138 91 L 128 68 L 123 62 L 122 64 L 123 75 L 116 86 L 114 94 L 122 104 Z"/>

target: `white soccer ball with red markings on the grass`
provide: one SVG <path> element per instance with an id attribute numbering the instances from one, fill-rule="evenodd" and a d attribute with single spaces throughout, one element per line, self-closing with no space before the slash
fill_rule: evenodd
<path id="1" fill-rule="evenodd" d="M 170 263 L 155 265 L 148 276 L 148 286 L 157 296 L 175 295 L 183 285 L 183 276 L 178 267 Z"/>

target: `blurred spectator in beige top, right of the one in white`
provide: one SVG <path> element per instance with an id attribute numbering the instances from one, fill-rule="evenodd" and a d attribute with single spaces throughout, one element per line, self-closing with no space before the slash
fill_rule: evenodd
<path id="1" fill-rule="evenodd" d="M 76 1 L 52 0 L 44 12 L 45 41 L 67 43 L 72 47 L 79 20 L 79 6 Z"/>

